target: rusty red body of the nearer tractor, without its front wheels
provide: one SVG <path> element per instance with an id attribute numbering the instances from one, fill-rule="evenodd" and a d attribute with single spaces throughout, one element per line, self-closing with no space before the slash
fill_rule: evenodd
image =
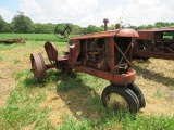
<path id="1" fill-rule="evenodd" d="M 107 20 L 103 21 L 108 23 Z M 66 29 L 65 29 L 66 30 Z M 65 30 L 61 34 L 66 34 Z M 55 30 L 57 31 L 57 30 Z M 65 35 L 66 36 L 66 35 Z M 70 39 L 73 48 L 69 48 L 65 55 L 60 56 L 58 48 L 52 42 L 45 43 L 45 50 L 51 64 L 47 69 L 75 69 L 101 77 L 119 84 L 128 84 L 135 80 L 136 73 L 132 69 L 133 39 L 138 32 L 130 28 L 121 28 L 102 32 L 82 35 Z M 32 55 L 32 64 L 37 61 Z M 41 61 L 42 58 L 40 58 Z M 41 63 L 36 63 L 40 76 Z"/>

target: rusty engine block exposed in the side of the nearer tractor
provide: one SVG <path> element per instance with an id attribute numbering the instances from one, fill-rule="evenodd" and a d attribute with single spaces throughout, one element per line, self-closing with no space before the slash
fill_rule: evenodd
<path id="1" fill-rule="evenodd" d="M 82 41 L 80 57 L 83 65 L 100 70 L 108 70 L 105 60 L 105 43 L 104 39 L 89 39 Z"/>

